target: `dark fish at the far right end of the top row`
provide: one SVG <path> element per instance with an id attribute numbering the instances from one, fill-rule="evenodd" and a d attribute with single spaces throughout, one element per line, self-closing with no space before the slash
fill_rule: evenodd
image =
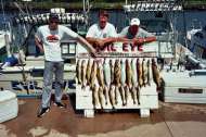
<path id="1" fill-rule="evenodd" d="M 155 82 L 157 88 L 160 87 L 160 75 L 157 67 L 157 64 L 154 59 L 152 59 L 152 72 L 153 72 L 153 80 Z"/>

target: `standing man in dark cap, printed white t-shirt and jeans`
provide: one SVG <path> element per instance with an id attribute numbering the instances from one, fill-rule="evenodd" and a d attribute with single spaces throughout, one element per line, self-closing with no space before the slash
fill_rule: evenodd
<path id="1" fill-rule="evenodd" d="M 55 101 L 54 104 L 59 108 L 65 108 L 62 100 L 63 73 L 64 62 L 61 57 L 61 40 L 64 36 L 69 36 L 76 39 L 86 48 L 94 53 L 92 46 L 69 28 L 59 25 L 59 15 L 51 13 L 49 16 L 49 25 L 40 26 L 35 35 L 35 42 L 41 52 L 44 52 L 44 73 L 43 73 L 43 92 L 41 108 L 38 112 L 38 117 L 41 117 L 50 110 L 50 99 L 52 90 L 53 74 L 55 75 Z"/>

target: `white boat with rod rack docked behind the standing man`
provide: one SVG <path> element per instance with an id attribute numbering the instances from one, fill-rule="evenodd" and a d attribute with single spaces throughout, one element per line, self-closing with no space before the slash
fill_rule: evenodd
<path id="1" fill-rule="evenodd" d="M 11 54 L 17 54 L 18 63 L 0 70 L 0 89 L 14 91 L 20 97 L 37 97 L 42 92 L 44 59 L 35 46 L 34 34 L 38 26 L 47 24 L 50 13 L 56 13 L 60 24 L 72 28 L 79 35 L 86 35 L 86 14 L 83 12 L 66 12 L 62 8 L 53 8 L 48 13 L 28 14 L 20 9 L 21 14 L 12 17 L 12 30 L 15 39 L 11 43 Z M 67 41 L 65 45 L 68 45 Z M 73 41 L 72 41 L 73 42 Z M 70 51 L 72 52 L 72 51 Z M 5 51 L 4 51 L 5 53 Z M 74 90 L 75 53 L 65 62 L 65 92 Z M 7 62 L 1 62 L 7 63 Z M 10 63 L 8 63 L 10 64 Z"/>

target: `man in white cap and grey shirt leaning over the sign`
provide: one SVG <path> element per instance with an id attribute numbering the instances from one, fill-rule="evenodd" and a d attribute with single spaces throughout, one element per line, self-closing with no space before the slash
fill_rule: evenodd
<path id="1" fill-rule="evenodd" d="M 140 26 L 140 20 L 132 18 L 130 22 L 130 26 L 125 27 L 120 32 L 119 37 L 132 39 L 133 43 L 138 45 L 138 50 L 142 51 L 142 45 L 144 42 L 155 41 L 156 37 L 139 26 Z"/>

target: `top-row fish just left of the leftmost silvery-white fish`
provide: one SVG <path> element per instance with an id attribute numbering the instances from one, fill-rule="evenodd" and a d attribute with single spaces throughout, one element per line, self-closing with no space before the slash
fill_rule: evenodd
<path id="1" fill-rule="evenodd" d="M 102 63 L 100 61 L 98 62 L 96 78 L 98 78 L 99 85 L 101 87 L 104 87 L 104 74 L 103 74 Z"/>

